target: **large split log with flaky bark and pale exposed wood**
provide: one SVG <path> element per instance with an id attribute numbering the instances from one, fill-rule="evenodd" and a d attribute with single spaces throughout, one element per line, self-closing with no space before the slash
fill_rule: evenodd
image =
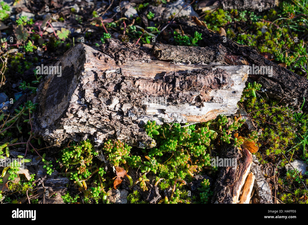
<path id="1" fill-rule="evenodd" d="M 200 48 L 189 49 L 200 53 Z M 183 55 L 187 47 L 176 51 Z M 208 55 L 202 61 L 207 57 L 212 60 Z M 62 76 L 49 74 L 40 84 L 33 124 L 36 134 L 56 145 L 66 138 L 92 138 L 97 145 L 117 138 L 154 146 L 144 132 L 147 120 L 204 122 L 236 113 L 249 70 L 160 61 L 151 49 L 115 39 L 99 47 L 79 43 L 55 65 L 62 66 Z"/>

